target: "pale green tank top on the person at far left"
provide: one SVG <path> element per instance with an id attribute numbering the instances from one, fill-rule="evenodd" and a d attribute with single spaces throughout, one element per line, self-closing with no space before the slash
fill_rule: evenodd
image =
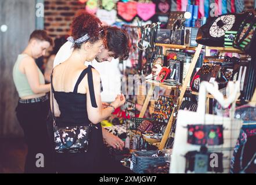
<path id="1" fill-rule="evenodd" d="M 26 57 L 27 54 L 19 54 L 15 65 L 13 66 L 13 81 L 15 83 L 16 90 L 19 93 L 19 97 L 26 97 L 34 95 L 35 93 L 31 90 L 30 84 L 28 83 L 27 76 L 19 71 L 20 61 Z M 39 83 L 45 84 L 45 78 L 40 69 L 38 68 Z"/>

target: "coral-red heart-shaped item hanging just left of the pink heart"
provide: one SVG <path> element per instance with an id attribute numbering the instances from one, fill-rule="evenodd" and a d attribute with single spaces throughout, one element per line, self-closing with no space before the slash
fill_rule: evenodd
<path id="1" fill-rule="evenodd" d="M 118 2 L 117 12 L 124 20 L 131 21 L 137 14 L 137 2 Z"/>

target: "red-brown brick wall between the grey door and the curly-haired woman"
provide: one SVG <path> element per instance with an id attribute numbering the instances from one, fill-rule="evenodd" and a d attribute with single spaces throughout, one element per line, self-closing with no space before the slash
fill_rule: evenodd
<path id="1" fill-rule="evenodd" d="M 45 0 L 45 30 L 54 40 L 66 35 L 78 10 L 85 8 L 85 3 L 78 0 Z"/>

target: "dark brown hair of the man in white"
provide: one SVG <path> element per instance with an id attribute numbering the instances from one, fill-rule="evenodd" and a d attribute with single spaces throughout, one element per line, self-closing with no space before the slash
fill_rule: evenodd
<path id="1" fill-rule="evenodd" d="M 113 52 L 114 58 L 127 60 L 130 52 L 127 32 L 117 27 L 104 26 L 103 28 L 106 30 L 106 49 Z"/>

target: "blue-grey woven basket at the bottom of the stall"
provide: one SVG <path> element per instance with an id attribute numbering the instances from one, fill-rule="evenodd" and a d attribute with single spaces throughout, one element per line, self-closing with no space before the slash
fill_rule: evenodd
<path id="1" fill-rule="evenodd" d="M 145 173 L 144 171 L 149 166 L 163 165 L 167 160 L 167 157 L 152 157 L 153 154 L 157 154 L 157 151 L 135 151 L 132 153 L 132 163 L 134 165 L 133 171 L 135 173 Z"/>

